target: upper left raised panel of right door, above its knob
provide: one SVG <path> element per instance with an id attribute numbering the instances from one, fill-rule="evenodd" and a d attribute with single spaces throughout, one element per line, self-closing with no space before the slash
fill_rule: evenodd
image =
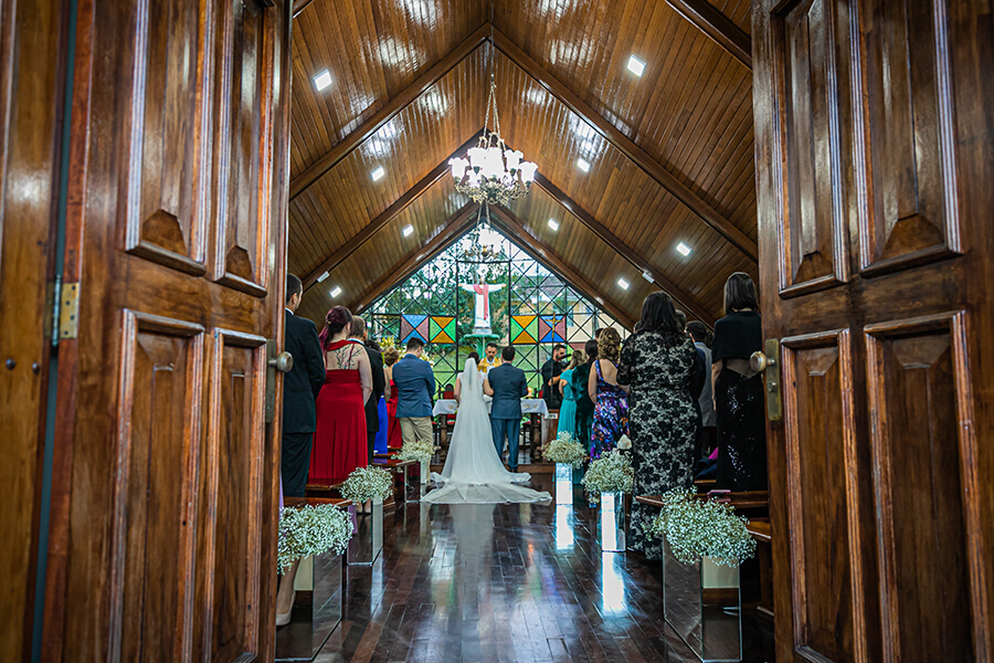
<path id="1" fill-rule="evenodd" d="M 849 278 L 837 87 L 837 14 L 828 0 L 774 12 L 774 181 L 782 234 L 780 292 Z"/>

